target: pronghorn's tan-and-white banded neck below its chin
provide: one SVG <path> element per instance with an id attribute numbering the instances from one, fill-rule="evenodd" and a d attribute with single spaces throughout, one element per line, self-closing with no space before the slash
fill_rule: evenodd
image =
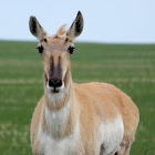
<path id="1" fill-rule="evenodd" d="M 53 94 L 44 90 L 44 108 L 42 112 L 43 131 L 50 133 L 52 137 L 60 138 L 73 133 L 76 115 L 74 89 L 71 74 L 64 90 Z M 74 121 L 73 121 L 74 120 Z"/>

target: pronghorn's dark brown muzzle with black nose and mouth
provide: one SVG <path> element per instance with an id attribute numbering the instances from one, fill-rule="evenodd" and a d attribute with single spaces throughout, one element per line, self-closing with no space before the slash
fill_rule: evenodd
<path id="1" fill-rule="evenodd" d="M 59 56 L 59 61 L 56 64 L 54 64 L 54 59 L 52 56 L 49 73 L 49 86 L 52 87 L 52 92 L 59 92 L 62 84 L 61 56 Z"/>

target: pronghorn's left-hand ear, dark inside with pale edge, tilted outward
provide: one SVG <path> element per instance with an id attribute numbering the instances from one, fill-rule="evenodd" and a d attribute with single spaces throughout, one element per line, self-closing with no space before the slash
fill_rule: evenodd
<path id="1" fill-rule="evenodd" d="M 30 27 L 31 33 L 35 38 L 38 38 L 39 41 L 41 41 L 44 38 L 44 35 L 46 35 L 46 32 L 40 25 L 35 17 L 30 17 L 29 27 Z"/>

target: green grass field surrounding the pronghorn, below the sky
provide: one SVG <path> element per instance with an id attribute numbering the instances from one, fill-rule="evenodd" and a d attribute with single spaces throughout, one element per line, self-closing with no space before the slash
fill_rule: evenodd
<path id="1" fill-rule="evenodd" d="M 30 123 L 43 94 L 35 42 L 0 41 L 0 155 L 31 155 Z M 132 155 L 155 155 L 155 45 L 78 43 L 73 81 L 112 83 L 136 103 L 141 122 Z"/>

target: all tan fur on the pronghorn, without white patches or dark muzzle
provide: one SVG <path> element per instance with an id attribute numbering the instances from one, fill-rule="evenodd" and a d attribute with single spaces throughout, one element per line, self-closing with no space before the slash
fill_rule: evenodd
<path id="1" fill-rule="evenodd" d="M 31 123 L 33 154 L 42 154 L 40 142 L 38 141 L 40 125 L 42 126 L 43 133 L 51 133 L 52 138 L 61 141 L 72 135 L 78 124 L 80 133 L 73 154 L 95 155 L 96 152 L 103 154 L 104 146 L 102 144 L 100 146 L 97 145 L 101 136 L 99 126 L 101 123 L 111 123 L 118 116 L 123 120 L 124 135 L 121 149 L 116 154 L 130 154 L 138 124 L 138 110 L 136 105 L 126 94 L 112 84 L 97 82 L 76 84 L 72 82 L 68 48 L 73 45 L 73 42 L 66 41 L 68 37 L 63 35 L 63 28 L 64 25 L 59 29 L 55 35 L 45 35 L 46 42 L 42 40 L 40 43 L 44 48 L 44 52 L 42 53 L 44 90 L 49 80 L 51 56 L 55 64 L 58 63 L 58 58 L 61 56 L 61 66 L 64 73 L 62 80 L 64 82 L 64 89 L 69 86 L 69 90 L 64 97 L 54 101 L 55 103 L 52 103 L 44 92 L 44 95 L 37 105 Z M 64 126 L 55 131 L 55 133 L 52 133 L 46 124 L 45 107 L 52 114 L 63 110 L 69 101 L 71 102 L 71 107 Z"/>

